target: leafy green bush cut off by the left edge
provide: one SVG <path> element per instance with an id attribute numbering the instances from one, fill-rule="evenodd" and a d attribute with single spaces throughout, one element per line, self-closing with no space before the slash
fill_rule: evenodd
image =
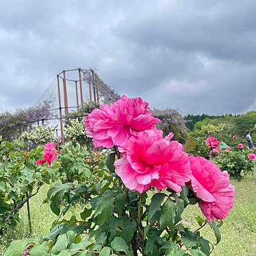
<path id="1" fill-rule="evenodd" d="M 47 166 L 36 166 L 43 149 L 24 150 L 25 144 L 0 142 L 0 234 L 15 227 L 18 212 L 44 182 L 54 178 Z"/>

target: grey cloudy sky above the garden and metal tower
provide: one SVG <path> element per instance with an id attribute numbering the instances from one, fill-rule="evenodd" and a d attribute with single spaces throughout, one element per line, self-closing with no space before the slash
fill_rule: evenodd
<path id="1" fill-rule="evenodd" d="M 96 68 L 119 94 L 182 114 L 256 110 L 256 1 L 0 1 L 0 110 Z"/>

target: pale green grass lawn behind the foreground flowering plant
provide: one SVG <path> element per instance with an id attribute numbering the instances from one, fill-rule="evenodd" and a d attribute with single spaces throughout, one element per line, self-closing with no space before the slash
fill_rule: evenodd
<path id="1" fill-rule="evenodd" d="M 253 177 L 246 177 L 243 181 L 232 181 L 235 185 L 235 207 L 231 209 L 228 218 L 221 227 L 222 240 L 216 246 L 214 256 L 252 256 L 256 255 L 256 184 Z M 31 218 L 33 236 L 38 237 L 49 232 L 55 215 L 49 205 L 42 205 L 48 187 L 45 185 L 34 198 L 31 199 Z M 195 217 L 201 216 L 198 207 L 188 207 L 184 212 L 185 222 L 196 229 Z M 213 231 L 204 229 L 203 235 L 214 242 Z M 28 236 L 27 207 L 21 210 L 21 223 L 16 231 L 10 231 L 5 239 L 0 241 L 0 255 L 11 240 Z"/>

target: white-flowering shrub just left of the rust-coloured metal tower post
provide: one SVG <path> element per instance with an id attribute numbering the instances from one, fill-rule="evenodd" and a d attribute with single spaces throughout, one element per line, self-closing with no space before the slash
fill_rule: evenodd
<path id="1" fill-rule="evenodd" d="M 56 127 L 36 126 L 29 131 L 23 131 L 19 137 L 22 141 L 28 142 L 30 147 L 42 146 L 47 142 L 55 142 Z"/>

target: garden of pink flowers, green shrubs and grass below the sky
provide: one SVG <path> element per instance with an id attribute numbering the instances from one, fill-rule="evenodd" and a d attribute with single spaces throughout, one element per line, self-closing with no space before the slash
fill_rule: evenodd
<path id="1" fill-rule="evenodd" d="M 64 145 L 46 127 L 0 138 L 0 252 L 255 255 L 255 151 L 174 115 L 123 96 L 68 120 Z"/>

